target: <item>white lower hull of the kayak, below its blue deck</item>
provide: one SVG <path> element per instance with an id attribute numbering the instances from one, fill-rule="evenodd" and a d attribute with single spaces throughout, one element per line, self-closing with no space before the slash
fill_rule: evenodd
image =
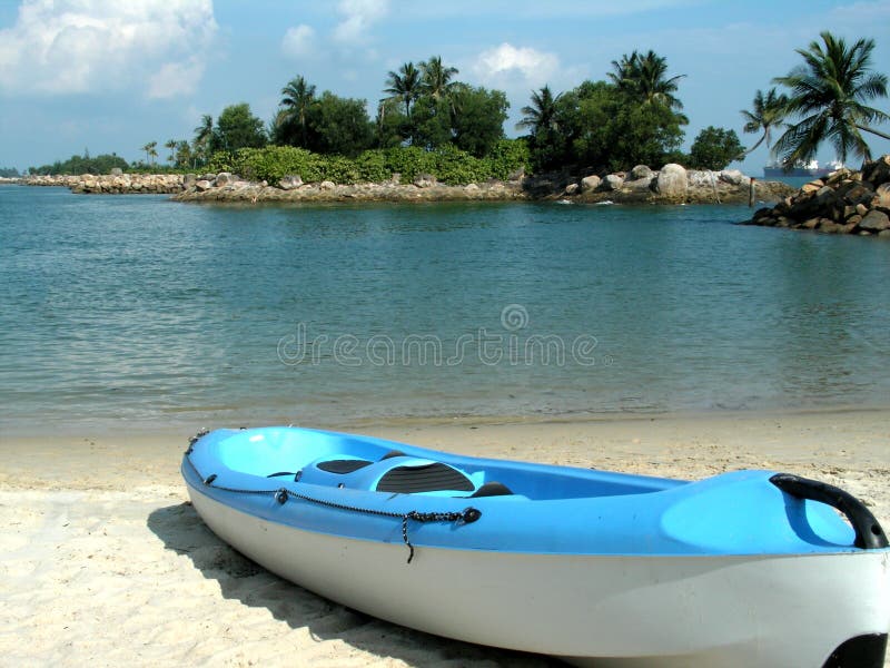
<path id="1" fill-rule="evenodd" d="M 374 617 L 458 640 L 591 666 L 818 668 L 843 642 L 890 629 L 888 550 L 597 554 L 432 541 L 408 562 L 408 536 L 399 536 L 396 519 L 382 540 L 307 529 L 276 519 L 275 507 L 291 503 L 268 497 L 268 512 L 254 512 L 238 507 L 241 490 L 228 499 L 188 458 L 182 472 L 207 525 L 268 570 Z M 482 501 L 473 500 L 485 518 Z M 304 514 L 343 512 L 297 504 Z M 415 533 L 423 542 L 424 532 Z"/>

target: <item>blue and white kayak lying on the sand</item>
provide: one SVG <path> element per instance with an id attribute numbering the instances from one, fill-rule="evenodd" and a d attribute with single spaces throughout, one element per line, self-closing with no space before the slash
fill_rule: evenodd
<path id="1" fill-rule="evenodd" d="M 201 433 L 181 471 L 241 553 L 431 633 L 594 666 L 883 666 L 887 537 L 795 475 L 685 482 L 284 426 Z"/>

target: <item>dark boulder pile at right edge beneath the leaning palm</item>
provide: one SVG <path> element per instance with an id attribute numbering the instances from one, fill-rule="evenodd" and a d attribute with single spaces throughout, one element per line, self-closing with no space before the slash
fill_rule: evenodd
<path id="1" fill-rule="evenodd" d="M 890 237 L 890 155 L 812 180 L 746 224 Z"/>

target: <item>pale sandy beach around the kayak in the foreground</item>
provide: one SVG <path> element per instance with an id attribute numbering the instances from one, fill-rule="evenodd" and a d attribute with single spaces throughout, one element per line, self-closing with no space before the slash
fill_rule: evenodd
<path id="1" fill-rule="evenodd" d="M 462 453 L 699 479 L 783 470 L 890 525 L 890 411 L 352 425 Z M 187 433 L 0 441 L 0 666 L 547 666 L 347 610 L 214 537 Z"/>

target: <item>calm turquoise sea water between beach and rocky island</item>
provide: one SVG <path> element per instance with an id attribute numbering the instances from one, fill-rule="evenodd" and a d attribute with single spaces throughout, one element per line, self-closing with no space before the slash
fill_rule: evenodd
<path id="1" fill-rule="evenodd" d="M 0 430 L 890 404 L 890 244 L 736 206 L 0 188 Z"/>

